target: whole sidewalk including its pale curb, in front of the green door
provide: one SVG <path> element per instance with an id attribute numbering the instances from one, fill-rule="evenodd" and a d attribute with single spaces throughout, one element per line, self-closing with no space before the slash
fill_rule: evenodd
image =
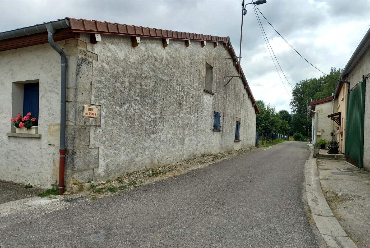
<path id="1" fill-rule="evenodd" d="M 369 172 L 340 158 L 312 155 L 306 162 L 306 194 L 320 234 L 330 248 L 369 248 Z"/>

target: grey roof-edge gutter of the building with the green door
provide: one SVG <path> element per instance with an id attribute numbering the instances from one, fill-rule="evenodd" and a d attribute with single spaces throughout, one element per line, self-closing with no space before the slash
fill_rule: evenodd
<path id="1" fill-rule="evenodd" d="M 338 84 L 337 84 L 337 87 L 336 87 L 335 93 L 334 93 L 334 100 L 336 99 L 338 90 L 339 90 L 340 86 L 343 83 L 348 84 L 348 90 L 349 90 L 349 82 L 344 81 L 343 77 L 344 77 L 344 75 L 350 73 L 350 71 L 357 64 L 357 62 L 360 60 L 361 56 L 363 56 L 363 54 L 367 51 L 367 49 L 369 47 L 370 47 L 370 29 L 367 30 L 367 32 L 366 32 L 365 36 L 363 37 L 363 39 L 361 40 L 359 46 L 357 46 L 356 50 L 354 51 L 351 58 L 349 59 L 346 67 L 344 67 L 344 70 L 340 74 Z"/>

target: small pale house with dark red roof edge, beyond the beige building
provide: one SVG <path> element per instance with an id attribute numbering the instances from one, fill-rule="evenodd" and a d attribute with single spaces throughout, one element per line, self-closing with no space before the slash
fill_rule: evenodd
<path id="1" fill-rule="evenodd" d="M 310 103 L 309 114 L 312 117 L 312 144 L 318 140 L 332 140 L 333 121 L 327 115 L 333 113 L 333 97 L 323 98 Z M 326 144 L 326 147 L 328 144 Z"/>

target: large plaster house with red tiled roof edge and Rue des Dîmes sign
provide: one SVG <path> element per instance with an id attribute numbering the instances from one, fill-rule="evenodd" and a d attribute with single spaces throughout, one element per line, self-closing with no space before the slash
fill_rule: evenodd
<path id="1" fill-rule="evenodd" d="M 59 178 L 63 193 L 255 145 L 259 110 L 229 37 L 65 18 L 0 39 L 0 180 Z M 38 133 L 16 133 L 28 111 Z"/>

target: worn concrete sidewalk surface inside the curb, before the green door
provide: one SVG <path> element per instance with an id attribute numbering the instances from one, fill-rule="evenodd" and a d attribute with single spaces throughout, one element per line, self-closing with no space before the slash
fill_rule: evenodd
<path id="1" fill-rule="evenodd" d="M 343 160 L 317 158 L 316 163 L 324 197 L 334 216 L 357 247 L 369 248 L 370 175 L 366 174 L 369 172 Z"/>

